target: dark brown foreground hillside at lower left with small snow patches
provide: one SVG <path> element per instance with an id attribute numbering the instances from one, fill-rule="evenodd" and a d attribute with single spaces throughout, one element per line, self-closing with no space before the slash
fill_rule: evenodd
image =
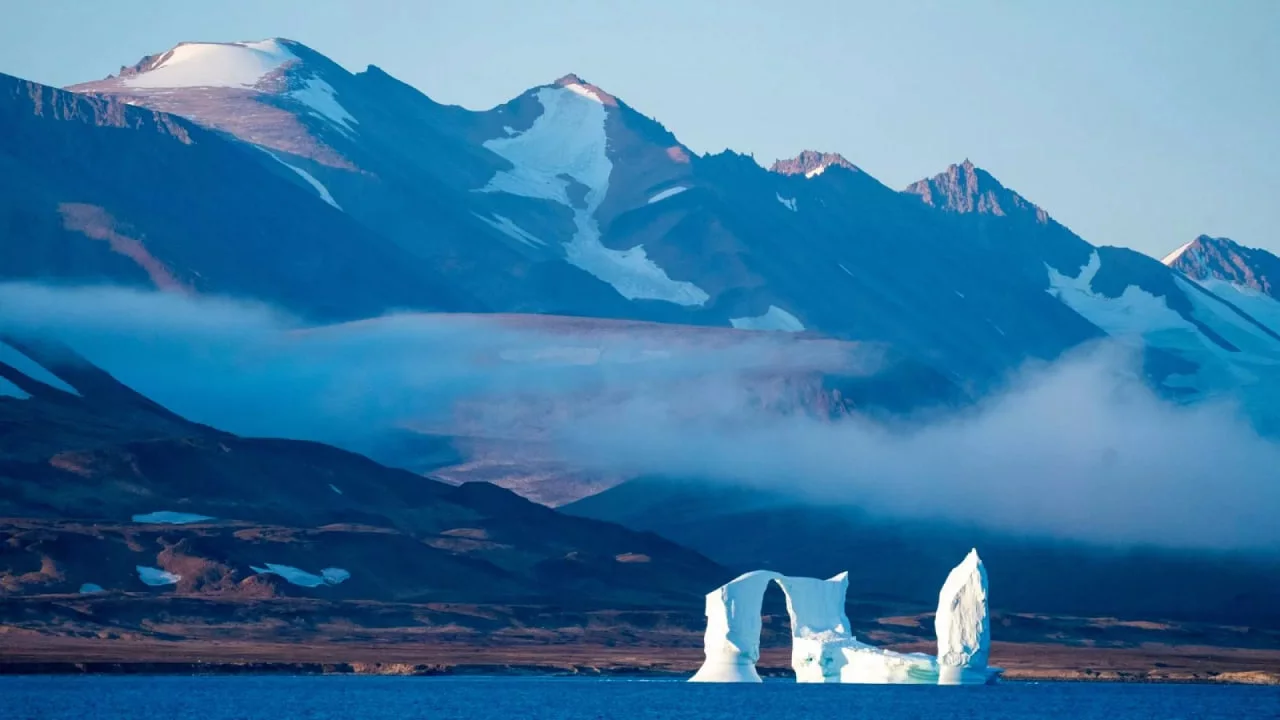
<path id="1" fill-rule="evenodd" d="M 221 598 L 692 607 L 708 578 L 726 575 L 655 536 L 488 483 L 453 487 L 317 443 L 196 425 L 61 348 L 3 350 L 4 596 L 91 584 Z"/>

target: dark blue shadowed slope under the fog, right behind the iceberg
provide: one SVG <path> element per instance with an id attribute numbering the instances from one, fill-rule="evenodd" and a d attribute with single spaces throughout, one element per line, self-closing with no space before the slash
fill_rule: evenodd
<path id="1" fill-rule="evenodd" d="M 660 478 L 623 483 L 564 511 L 659 533 L 733 569 L 849 570 L 849 594 L 861 602 L 928 607 L 937 601 L 936 578 L 978 547 L 997 610 L 1280 628 L 1280 559 L 1266 555 L 1111 548 L 888 520 L 774 492 Z"/>

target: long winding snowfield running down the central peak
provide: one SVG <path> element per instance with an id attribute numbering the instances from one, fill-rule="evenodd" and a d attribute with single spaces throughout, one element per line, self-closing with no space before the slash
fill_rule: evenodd
<path id="1" fill-rule="evenodd" d="M 573 210 L 573 237 L 564 259 L 611 284 L 628 300 L 663 300 L 698 306 L 710 296 L 690 282 L 673 281 L 650 260 L 644 246 L 612 250 L 600 242 L 595 210 L 609 190 L 605 109 L 599 97 L 581 86 L 544 87 L 538 91 L 543 114 L 525 132 L 497 137 L 485 147 L 513 165 L 499 170 L 483 192 L 507 192 L 552 200 Z M 580 206 L 568 197 L 570 181 L 586 187 Z"/>

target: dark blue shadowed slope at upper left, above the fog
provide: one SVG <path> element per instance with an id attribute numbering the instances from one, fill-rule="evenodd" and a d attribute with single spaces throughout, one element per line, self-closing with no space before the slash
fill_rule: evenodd
<path id="1" fill-rule="evenodd" d="M 0 124 L 5 278 L 233 295 L 319 318 L 474 306 L 260 150 L 189 120 L 0 76 Z"/>

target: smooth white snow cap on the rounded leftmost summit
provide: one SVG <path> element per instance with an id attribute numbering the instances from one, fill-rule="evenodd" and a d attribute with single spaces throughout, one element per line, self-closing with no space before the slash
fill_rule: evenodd
<path id="1" fill-rule="evenodd" d="M 124 78 L 128 87 L 253 87 L 285 63 L 297 60 L 275 40 L 187 42 L 159 65 Z"/>

